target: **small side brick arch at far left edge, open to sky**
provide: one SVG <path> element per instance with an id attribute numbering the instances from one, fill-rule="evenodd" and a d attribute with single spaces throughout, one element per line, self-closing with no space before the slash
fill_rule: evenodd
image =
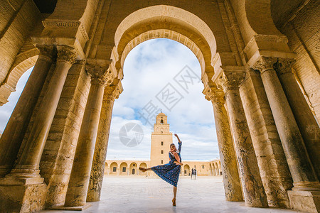
<path id="1" fill-rule="evenodd" d="M 0 106 L 8 102 L 11 92 L 16 91 L 18 80 L 28 69 L 33 67 L 38 60 L 39 50 L 33 48 L 16 56 L 14 64 L 6 75 L 6 79 L 0 85 Z"/>

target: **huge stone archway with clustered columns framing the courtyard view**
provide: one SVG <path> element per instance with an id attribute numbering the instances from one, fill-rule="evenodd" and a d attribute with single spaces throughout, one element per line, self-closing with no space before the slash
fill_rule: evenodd
<path id="1" fill-rule="evenodd" d="M 144 40 L 169 38 L 190 48 L 201 64 L 203 94 L 213 103 L 222 163 L 213 167 L 215 175 L 223 171 L 226 200 L 242 200 L 242 190 L 250 207 L 311 211 L 312 192 L 320 188 L 314 173 L 314 168 L 319 172 L 319 159 L 312 153 L 319 149 L 305 131 L 304 124 L 311 119 L 297 114 L 295 102 L 303 102 L 303 97 L 296 95 L 299 88 L 291 72 L 296 55 L 287 45 L 288 38 L 274 26 L 270 0 L 193 2 L 135 1 L 126 8 L 122 1 L 58 1 L 33 36 L 37 47 L 45 50 L 33 70 L 35 83 L 24 90 L 29 93 L 17 104 L 1 137 L 0 176 L 6 175 L 0 185 L 1 202 L 22 203 L 16 197 L 23 197 L 23 190 L 34 192 L 28 201 L 40 200 L 27 205 L 26 212 L 43 209 L 45 204 L 85 206 L 91 192 L 97 194 L 92 200 L 99 200 L 124 60 Z M 66 13 L 70 5 L 75 11 Z M 14 11 L 8 19 L 13 22 L 6 27 L 15 26 L 20 17 L 19 9 Z M 14 55 L 25 40 L 19 40 Z M 1 62 L 14 61 L 10 53 L 4 56 Z M 45 82 L 43 73 L 49 71 L 52 77 Z M 4 72 L 0 72 L 2 80 Z M 117 166 L 114 172 L 119 172 Z M 23 190 L 6 190 L 13 180 L 20 181 Z M 311 206 L 315 209 L 317 204 Z M 21 206 L 13 208 L 21 210 Z"/>

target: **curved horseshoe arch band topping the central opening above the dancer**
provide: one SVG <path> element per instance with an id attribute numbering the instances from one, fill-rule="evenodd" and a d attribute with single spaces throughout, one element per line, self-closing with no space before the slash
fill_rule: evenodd
<path id="1" fill-rule="evenodd" d="M 221 37 L 217 43 L 211 28 L 198 16 L 175 6 L 156 5 L 134 11 L 119 23 L 111 67 L 122 70 L 129 50 L 152 38 L 169 38 L 190 48 L 201 63 L 201 76 L 213 75 L 211 61 L 218 50 L 230 51 L 228 42 Z"/>

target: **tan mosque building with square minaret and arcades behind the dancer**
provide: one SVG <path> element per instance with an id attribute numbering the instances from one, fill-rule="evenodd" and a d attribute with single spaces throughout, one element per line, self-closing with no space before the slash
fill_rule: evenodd
<path id="1" fill-rule="evenodd" d="M 183 142 L 183 141 L 182 141 Z M 142 173 L 139 167 L 149 168 L 169 162 L 169 146 L 173 143 L 173 135 L 170 132 L 170 124 L 166 114 L 159 113 L 156 116 L 154 131 L 151 133 L 150 160 L 144 159 L 107 159 L 105 162 L 105 175 L 142 175 L 156 176 L 152 171 Z M 182 145 L 183 146 L 183 145 Z M 196 168 L 199 176 L 222 175 L 220 159 L 215 160 L 184 160 L 182 155 L 181 175 L 191 175 L 192 168 Z"/>

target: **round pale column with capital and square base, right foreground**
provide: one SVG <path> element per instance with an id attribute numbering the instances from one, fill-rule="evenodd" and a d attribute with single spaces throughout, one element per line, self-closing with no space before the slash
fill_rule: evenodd
<path id="1" fill-rule="evenodd" d="M 294 187 L 288 191 L 294 209 L 312 212 L 319 210 L 319 180 L 306 153 L 304 140 L 287 102 L 282 85 L 274 70 L 277 58 L 260 57 L 253 68 L 261 72 L 275 124 L 284 148 Z"/>

